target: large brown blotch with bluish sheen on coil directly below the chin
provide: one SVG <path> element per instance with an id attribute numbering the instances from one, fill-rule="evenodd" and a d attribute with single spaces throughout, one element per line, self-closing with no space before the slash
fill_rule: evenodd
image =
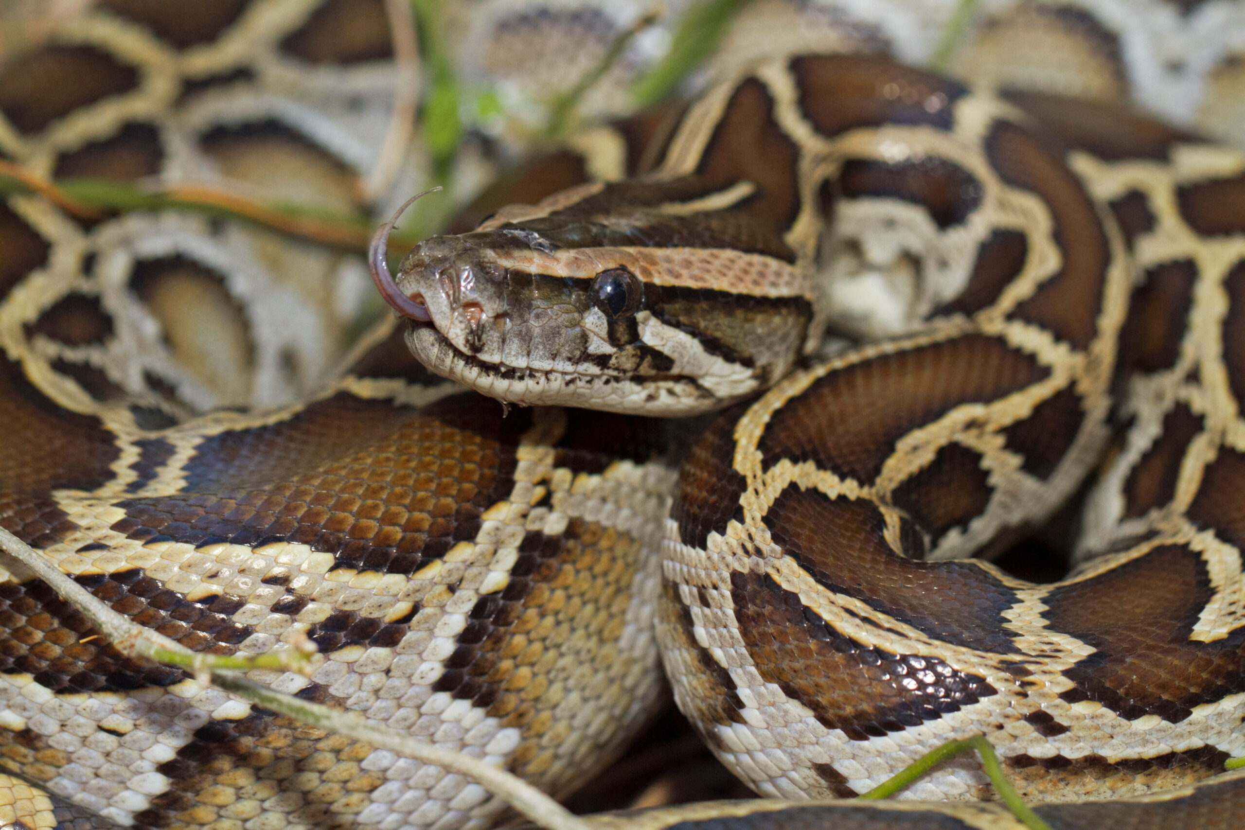
<path id="1" fill-rule="evenodd" d="M 527 417 L 525 417 L 527 416 Z M 204 438 L 186 485 L 118 503 L 118 533 L 193 545 L 293 541 L 337 564 L 413 574 L 509 495 L 528 411 L 457 396 L 422 411 L 347 393 L 294 417 Z"/>

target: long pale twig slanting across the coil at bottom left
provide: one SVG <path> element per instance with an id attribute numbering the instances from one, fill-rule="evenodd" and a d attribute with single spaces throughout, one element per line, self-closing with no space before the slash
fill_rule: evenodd
<path id="1" fill-rule="evenodd" d="M 57 596 L 81 611 L 100 633 L 129 657 L 157 660 L 192 669 L 199 674 L 207 673 L 210 682 L 219 688 L 233 692 L 256 706 L 289 716 L 300 723 L 344 734 L 374 748 L 388 749 L 405 758 L 458 773 L 479 783 L 486 790 L 545 830 L 588 830 L 588 824 L 574 816 L 566 808 L 504 769 L 489 767 L 478 758 L 442 749 L 400 732 L 374 727 L 357 712 L 339 712 L 326 706 L 301 701 L 291 694 L 275 692 L 240 674 L 225 671 L 228 668 L 285 668 L 291 655 L 293 660 L 296 661 L 298 655 L 304 653 L 305 657 L 305 652 L 286 650 L 284 656 L 271 655 L 273 658 L 286 661 L 274 666 L 258 664 L 256 658 L 250 657 L 222 660 L 212 655 L 197 655 L 168 637 L 144 628 L 113 611 L 70 576 L 62 574 L 39 551 L 0 528 L 0 562 L 11 561 L 16 561 L 17 565 L 44 580 L 49 587 L 56 591 Z M 258 657 L 269 657 L 269 655 Z"/>

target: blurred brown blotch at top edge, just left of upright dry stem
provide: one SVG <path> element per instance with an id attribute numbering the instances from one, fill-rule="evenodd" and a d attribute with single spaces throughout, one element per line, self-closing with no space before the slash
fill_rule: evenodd
<path id="1" fill-rule="evenodd" d="M 393 55 L 381 0 L 329 0 L 303 27 L 281 41 L 281 51 L 309 63 L 360 63 Z"/>

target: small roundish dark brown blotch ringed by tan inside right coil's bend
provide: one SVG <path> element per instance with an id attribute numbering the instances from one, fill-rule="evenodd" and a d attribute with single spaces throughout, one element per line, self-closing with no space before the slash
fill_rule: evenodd
<path id="1" fill-rule="evenodd" d="M 906 511 L 934 545 L 951 528 L 962 528 L 985 511 L 994 489 L 981 467 L 981 453 L 947 444 L 934 460 L 895 488 L 891 500 Z"/>

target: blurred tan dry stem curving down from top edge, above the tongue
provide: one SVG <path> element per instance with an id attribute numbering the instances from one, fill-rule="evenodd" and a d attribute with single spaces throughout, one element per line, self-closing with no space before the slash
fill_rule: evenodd
<path id="1" fill-rule="evenodd" d="M 415 110 L 420 98 L 420 49 L 415 36 L 415 9 L 411 0 L 385 0 L 390 35 L 393 41 L 393 108 L 385 141 L 371 173 L 364 179 L 364 198 L 369 202 L 385 195 L 402 169 L 406 149 L 415 134 Z"/>

